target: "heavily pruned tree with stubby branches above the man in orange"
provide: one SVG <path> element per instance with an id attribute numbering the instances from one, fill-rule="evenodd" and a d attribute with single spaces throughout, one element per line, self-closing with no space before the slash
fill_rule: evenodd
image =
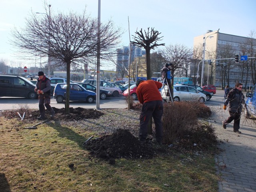
<path id="1" fill-rule="evenodd" d="M 148 31 L 142 29 L 138 32 L 135 32 L 134 41 L 131 41 L 132 44 L 144 48 L 146 50 L 146 67 L 147 67 L 147 79 L 151 79 L 151 62 L 150 62 L 150 50 L 155 49 L 158 46 L 164 46 L 164 43 L 158 44 L 158 41 L 162 40 L 162 37 L 159 37 L 161 33 L 154 30 L 154 28 L 148 28 Z"/>

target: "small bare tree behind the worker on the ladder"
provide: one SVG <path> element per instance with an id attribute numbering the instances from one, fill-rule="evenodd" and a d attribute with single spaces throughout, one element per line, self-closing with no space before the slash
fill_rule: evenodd
<path id="1" fill-rule="evenodd" d="M 161 50 L 160 53 L 162 54 L 163 58 L 172 63 L 170 68 L 172 71 L 172 76 L 175 77 L 176 71 L 179 72 L 179 70 L 182 70 L 186 61 L 191 57 L 192 49 L 186 47 L 185 45 L 170 44 L 169 46 L 166 46 L 164 50 Z M 173 84 L 174 80 L 172 78 L 172 86 Z M 171 90 L 171 95 L 173 97 L 173 90 Z"/>

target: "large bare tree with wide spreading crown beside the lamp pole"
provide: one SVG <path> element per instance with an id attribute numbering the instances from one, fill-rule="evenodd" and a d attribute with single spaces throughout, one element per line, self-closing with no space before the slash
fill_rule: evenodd
<path id="1" fill-rule="evenodd" d="M 26 18 L 26 26 L 21 30 L 14 28 L 12 44 L 25 55 L 48 56 L 55 66 L 66 66 L 67 95 L 66 113 L 69 113 L 70 66 L 84 66 L 96 57 L 97 36 L 100 35 L 100 57 L 114 54 L 115 46 L 121 36 L 120 28 L 112 21 L 101 24 L 98 31 L 96 18 L 70 11 L 50 15 L 50 7 L 45 4 L 46 17 L 31 12 Z M 49 62 L 50 64 L 50 62 Z"/>

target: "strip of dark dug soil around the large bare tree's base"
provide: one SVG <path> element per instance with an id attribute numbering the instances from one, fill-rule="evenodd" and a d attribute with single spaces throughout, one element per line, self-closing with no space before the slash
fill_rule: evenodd
<path id="1" fill-rule="evenodd" d="M 55 116 L 55 120 L 65 120 L 65 121 L 74 121 L 74 120 L 83 120 L 83 119 L 97 119 L 100 118 L 104 113 L 94 110 L 94 109 L 85 109 L 85 108 L 72 108 L 70 107 L 70 114 L 65 114 L 65 108 L 55 108 L 52 107 Z M 24 121 L 29 120 L 36 120 L 38 116 L 40 116 L 39 110 L 31 110 L 31 109 L 19 109 L 19 110 L 10 110 L 10 111 L 4 111 L 2 112 L 2 115 L 5 118 L 20 118 L 17 114 L 19 112 L 21 116 L 25 114 Z M 50 112 L 48 110 L 45 111 L 46 118 L 50 119 Z"/>

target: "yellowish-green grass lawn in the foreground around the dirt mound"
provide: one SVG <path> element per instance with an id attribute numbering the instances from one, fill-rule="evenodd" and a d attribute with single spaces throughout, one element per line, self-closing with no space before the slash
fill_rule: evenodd
<path id="1" fill-rule="evenodd" d="M 36 124 L 35 122 L 34 124 Z M 50 121 L 37 129 L 0 117 L 1 192 L 216 192 L 214 154 L 168 153 L 151 159 L 92 157 L 83 142 L 97 133 Z M 168 148 L 163 145 L 160 148 Z M 74 164 L 74 166 L 73 166 Z"/>

